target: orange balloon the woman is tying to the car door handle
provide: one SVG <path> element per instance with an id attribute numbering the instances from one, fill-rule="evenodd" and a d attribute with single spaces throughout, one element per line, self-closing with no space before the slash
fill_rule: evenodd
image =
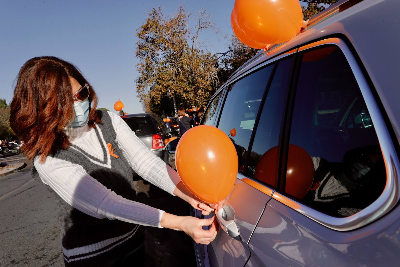
<path id="1" fill-rule="evenodd" d="M 207 142 L 196 142 L 205 137 Z M 222 130 L 210 125 L 190 128 L 180 138 L 175 156 L 180 179 L 198 198 L 218 203 L 229 195 L 238 173 L 238 156 Z"/>

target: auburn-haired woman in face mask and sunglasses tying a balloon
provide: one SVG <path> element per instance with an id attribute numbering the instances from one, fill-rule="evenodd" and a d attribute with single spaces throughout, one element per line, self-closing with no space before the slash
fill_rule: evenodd
<path id="1" fill-rule="evenodd" d="M 179 217 L 134 201 L 132 169 L 204 215 L 213 211 L 120 116 L 96 111 L 97 101 L 74 65 L 43 56 L 22 66 L 10 104 L 10 125 L 32 160 L 32 177 L 47 186 L 61 209 L 65 265 L 121 265 L 142 244 L 140 225 L 182 230 L 197 243 L 210 243 L 216 236 L 213 218 Z M 203 225 L 212 226 L 204 231 Z"/>

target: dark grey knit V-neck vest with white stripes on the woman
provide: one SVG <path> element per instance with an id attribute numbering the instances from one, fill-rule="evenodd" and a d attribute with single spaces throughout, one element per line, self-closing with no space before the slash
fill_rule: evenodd
<path id="1" fill-rule="evenodd" d="M 92 157 L 80 147 L 71 145 L 67 150 L 60 150 L 52 157 L 81 165 L 83 169 L 106 188 L 118 195 L 136 200 L 132 168 L 117 146 L 116 132 L 110 116 L 106 111 L 99 111 L 101 124 L 96 124 L 96 136 L 103 150 L 103 161 Z M 104 140 L 104 142 L 103 142 Z M 104 143 L 110 143 L 118 159 L 110 156 Z M 32 177 L 42 182 L 34 165 Z M 58 215 L 64 235 L 62 246 L 64 263 L 68 266 L 96 265 L 107 266 L 123 255 L 129 248 L 133 249 L 135 239 L 142 235 L 139 225 L 119 220 L 98 219 L 86 215 L 62 200 L 49 186 L 47 189 L 56 196 L 60 208 Z"/>

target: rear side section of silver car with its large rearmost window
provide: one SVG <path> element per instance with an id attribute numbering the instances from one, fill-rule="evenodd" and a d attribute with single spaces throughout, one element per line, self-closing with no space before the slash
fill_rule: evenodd
<path id="1" fill-rule="evenodd" d="M 379 218 L 398 201 L 399 163 L 381 111 L 343 40 L 298 50 L 276 191 L 246 266 L 396 266 L 399 213 Z"/>

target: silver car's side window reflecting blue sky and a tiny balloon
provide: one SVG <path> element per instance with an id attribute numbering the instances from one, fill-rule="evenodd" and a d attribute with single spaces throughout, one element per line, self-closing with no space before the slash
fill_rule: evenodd
<path id="1" fill-rule="evenodd" d="M 274 68 L 267 66 L 230 85 L 218 128 L 235 145 L 239 169 L 244 165 L 261 98 Z M 231 133 L 234 129 L 235 134 Z"/>

